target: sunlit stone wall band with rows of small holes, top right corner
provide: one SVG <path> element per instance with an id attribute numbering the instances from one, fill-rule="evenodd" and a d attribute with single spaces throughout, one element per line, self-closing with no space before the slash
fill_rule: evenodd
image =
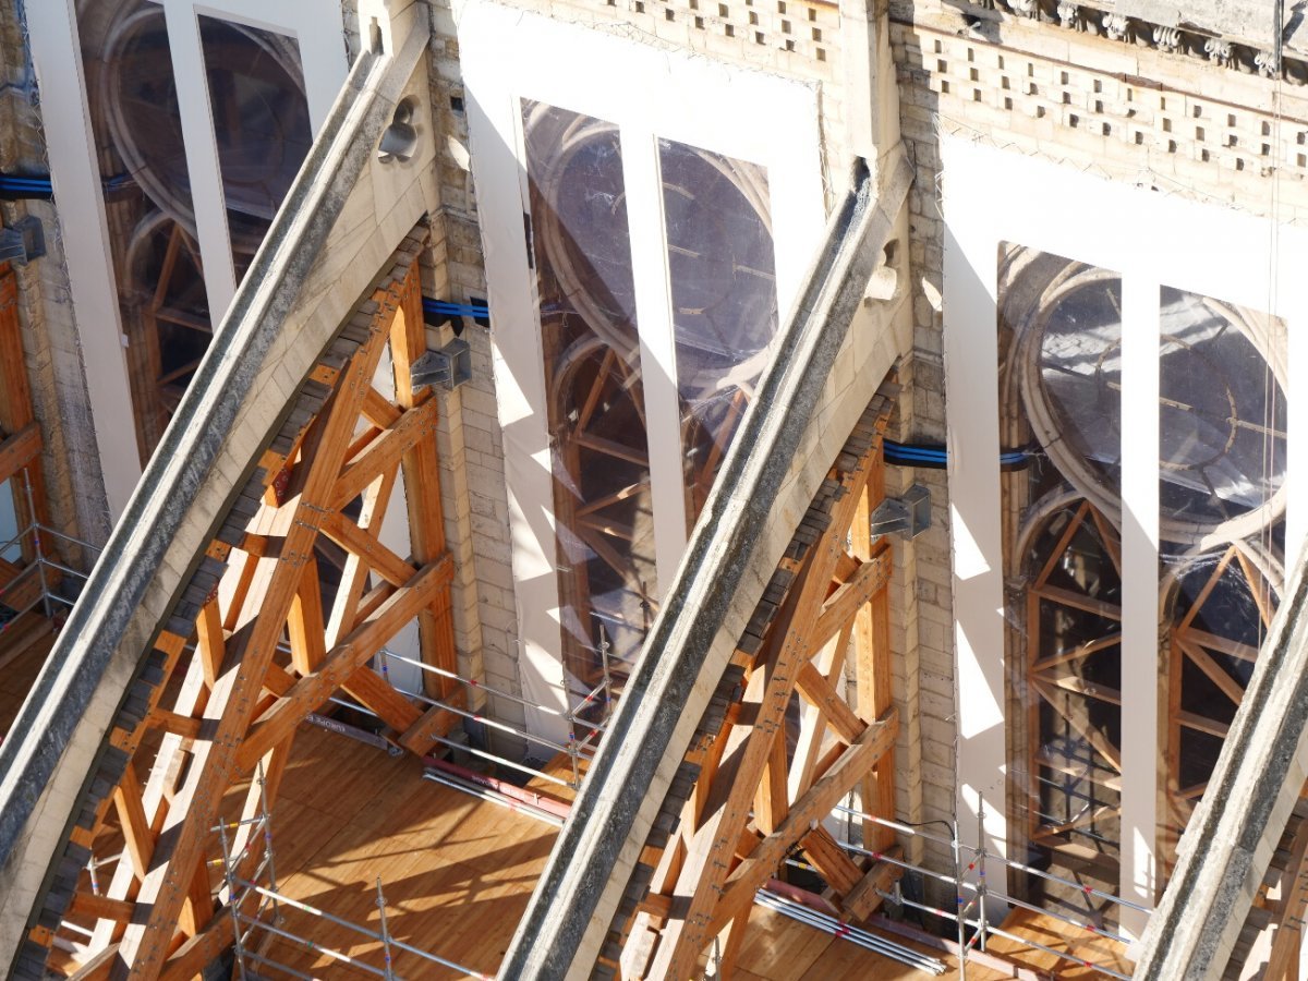
<path id="1" fill-rule="evenodd" d="M 1305 86 L 1053 24 L 972 30 L 934 0 L 891 42 L 901 123 L 926 175 L 939 126 L 1163 194 L 1308 220 Z"/>

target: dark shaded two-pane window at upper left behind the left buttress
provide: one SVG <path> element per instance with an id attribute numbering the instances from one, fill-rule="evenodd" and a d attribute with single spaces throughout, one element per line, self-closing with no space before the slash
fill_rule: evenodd
<path id="1" fill-rule="evenodd" d="M 177 51 L 188 17 L 196 50 Z M 289 31 L 212 9 L 88 0 L 77 30 L 144 462 L 208 348 L 215 306 L 234 289 L 211 296 L 216 269 L 243 275 L 309 152 L 305 75 Z M 201 93 L 212 118 L 226 255 L 207 252 L 198 228 L 205 192 L 191 173 L 200 150 L 188 145 L 186 92 Z"/>

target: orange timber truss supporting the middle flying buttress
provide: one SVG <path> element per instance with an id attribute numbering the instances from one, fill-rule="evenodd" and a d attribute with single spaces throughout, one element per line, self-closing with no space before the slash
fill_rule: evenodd
<path id="1" fill-rule="evenodd" d="M 803 853 L 852 918 L 889 888 L 892 865 L 848 852 L 824 827 L 852 793 L 865 811 L 893 814 L 892 557 L 869 530 L 884 496 L 888 412 L 878 395 L 773 576 L 718 688 L 717 718 L 701 723 L 674 780 L 668 820 L 655 823 L 600 972 L 620 960 L 624 977 L 687 978 L 725 935 L 730 976 L 755 892 L 791 854 Z M 845 697 L 849 683 L 857 698 Z M 671 836 L 661 831 L 674 821 Z M 883 853 L 893 833 L 867 821 L 862 842 Z"/>

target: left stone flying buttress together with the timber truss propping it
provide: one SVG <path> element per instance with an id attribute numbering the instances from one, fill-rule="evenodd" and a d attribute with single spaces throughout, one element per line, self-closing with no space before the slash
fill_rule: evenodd
<path id="1" fill-rule="evenodd" d="M 69 909 L 97 923 L 88 976 L 192 977 L 230 944 L 207 871 L 218 802 L 252 768 L 262 797 L 247 787 L 246 811 L 271 802 L 296 727 L 337 689 L 422 752 L 453 725 L 368 663 L 419 619 L 420 657 L 456 671 L 451 560 L 432 528 L 438 400 L 407 371 L 425 345 L 420 178 L 436 149 L 371 173 L 395 105 L 429 92 L 425 10 L 408 20 L 399 50 L 356 63 L 51 654 L 58 670 L 24 708 L 25 738 L 0 747 L 0 952 L 17 951 L 14 978 L 43 976 Z M 378 215 L 382 186 L 394 199 Z M 395 403 L 373 387 L 387 348 Z M 378 538 L 402 470 L 408 556 Z M 328 539 L 324 555 L 347 556 L 339 583 L 318 577 Z M 153 761 L 137 759 L 146 730 Z M 82 870 L 111 811 L 124 854 L 92 901 Z"/>

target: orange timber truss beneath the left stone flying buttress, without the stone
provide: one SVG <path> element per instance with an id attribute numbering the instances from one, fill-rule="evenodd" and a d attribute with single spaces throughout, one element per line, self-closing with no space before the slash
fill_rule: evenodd
<path id="1" fill-rule="evenodd" d="M 110 731 L 31 934 L 48 947 L 65 916 L 93 926 L 93 956 L 78 978 L 190 978 L 230 946 L 232 921 L 209 872 L 215 824 L 255 816 L 260 783 L 276 799 L 297 726 L 335 692 L 348 692 L 394 743 L 420 755 L 456 721 L 442 708 L 422 710 L 370 666 L 417 619 L 422 659 L 456 670 L 437 400 L 409 381 L 426 347 L 420 246 L 405 241 L 302 386 Z M 394 398 L 374 386 L 387 345 Z M 379 531 L 388 510 L 405 505 L 403 556 Z M 453 680 L 426 678 L 432 700 L 460 701 Z M 81 866 L 115 824 L 123 858 L 107 889 L 93 895 Z M 250 827 L 233 844 L 235 854 L 245 849 L 245 875 L 263 844 L 247 840 Z"/>

